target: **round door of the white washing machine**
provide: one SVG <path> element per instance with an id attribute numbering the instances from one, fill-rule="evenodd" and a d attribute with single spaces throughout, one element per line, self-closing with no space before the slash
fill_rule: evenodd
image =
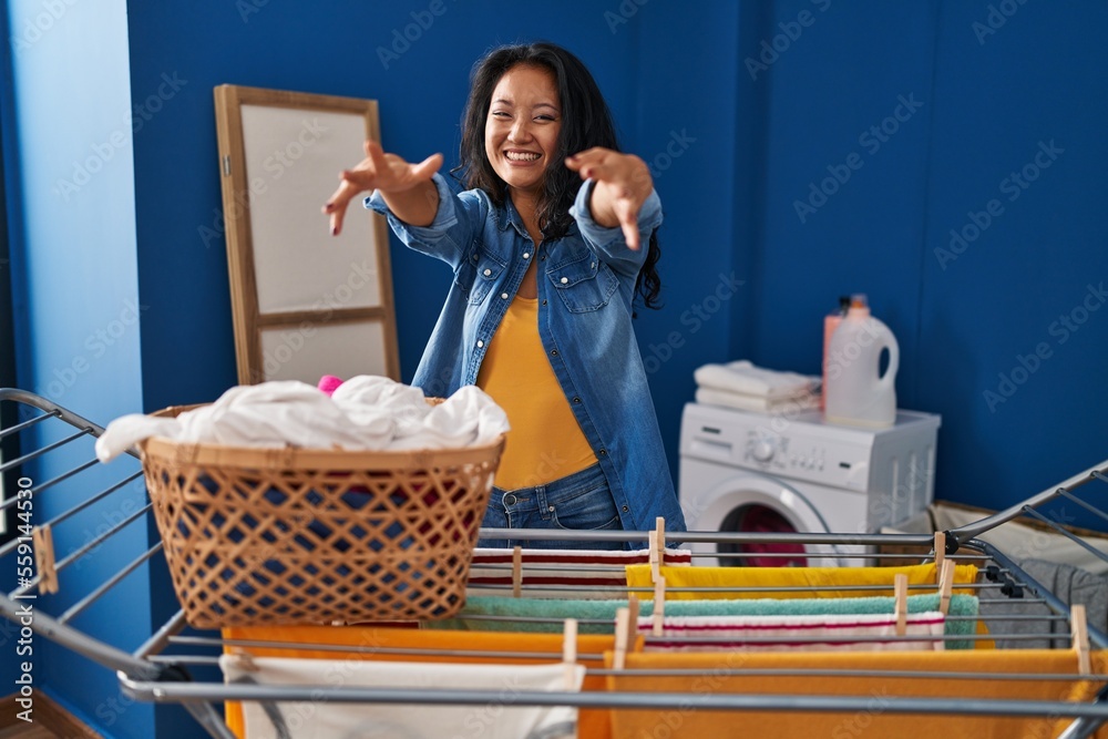
<path id="1" fill-rule="evenodd" d="M 693 531 L 765 534 L 829 531 L 819 510 L 801 490 L 748 471 L 738 472 L 685 501 L 685 515 Z M 719 566 L 839 566 L 830 547 L 796 542 L 700 544 L 694 545 L 694 551 L 727 555 L 718 558 Z"/>

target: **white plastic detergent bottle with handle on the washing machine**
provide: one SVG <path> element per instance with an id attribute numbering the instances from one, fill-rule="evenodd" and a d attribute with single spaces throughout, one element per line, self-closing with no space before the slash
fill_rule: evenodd
<path id="1" fill-rule="evenodd" d="M 889 367 L 881 371 L 881 352 Z M 890 427 L 896 421 L 896 369 L 900 346 L 889 327 L 870 315 L 864 295 L 851 297 L 850 309 L 831 335 L 828 348 L 824 419 L 829 423 Z"/>

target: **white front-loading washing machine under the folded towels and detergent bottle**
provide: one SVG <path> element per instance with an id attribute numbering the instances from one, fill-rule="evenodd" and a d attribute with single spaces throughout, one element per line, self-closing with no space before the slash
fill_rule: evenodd
<path id="1" fill-rule="evenodd" d="M 934 496 L 938 415 L 897 411 L 884 429 L 828 423 L 821 411 L 767 415 L 688 403 L 678 494 L 689 531 L 878 533 Z M 720 566 L 872 564 L 850 544 L 706 544 Z M 743 556 L 736 556 L 741 554 Z"/>

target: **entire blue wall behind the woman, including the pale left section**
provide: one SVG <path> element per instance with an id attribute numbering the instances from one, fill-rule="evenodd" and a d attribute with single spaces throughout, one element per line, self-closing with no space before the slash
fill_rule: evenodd
<path id="1" fill-rule="evenodd" d="M 43 7 L 10 4 L 12 34 Z M 141 298 L 138 332 L 64 387 L 59 400 L 79 412 L 110 420 L 211 400 L 235 382 L 226 254 L 205 238 L 220 223 L 214 86 L 375 97 L 388 150 L 442 151 L 450 166 L 473 61 L 546 38 L 589 65 L 624 146 L 655 167 L 666 307 L 642 311 L 638 331 L 675 471 L 693 369 L 746 357 L 817 373 L 822 316 L 852 291 L 869 294 L 900 339 L 901 406 L 943 414 L 940 497 L 1002 507 L 1105 456 L 1108 311 L 1083 312 L 1086 300 L 1099 309 L 1088 286 L 1108 277 L 1102 3 L 444 0 L 388 65 L 377 49 L 429 0 L 131 2 L 126 17 L 113 4 L 99 16 L 66 6 L 13 53 L 21 383 L 49 394 L 54 370 Z M 1014 13 L 989 19 L 989 4 Z M 60 101 L 71 115 L 55 115 Z M 69 201 L 52 194 L 129 104 L 133 163 L 125 146 Z M 882 125 L 883 141 L 868 134 Z M 1061 153 L 1009 201 L 1005 178 L 1050 142 Z M 798 213 L 834 173 L 845 182 Z M 984 223 L 967 214 L 994 198 L 999 215 L 954 258 L 941 252 L 952 228 Z M 305 217 L 324 228 L 319 203 Z M 449 274 L 392 247 L 410 379 Z M 140 613 L 172 603 L 165 582 L 151 588 L 135 596 Z M 153 620 L 167 607 L 154 606 Z M 114 679 L 93 685 L 66 686 L 88 712 Z M 157 736 L 192 736 L 173 716 L 160 716 Z"/>

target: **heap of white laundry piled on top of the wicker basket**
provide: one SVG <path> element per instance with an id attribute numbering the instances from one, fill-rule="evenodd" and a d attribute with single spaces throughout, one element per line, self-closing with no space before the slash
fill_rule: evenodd
<path id="1" fill-rule="evenodd" d="M 286 380 L 232 388 L 174 419 L 121 417 L 96 440 L 96 456 L 111 461 L 155 435 L 232 447 L 396 451 L 480 445 L 507 429 L 503 409 L 473 386 L 432 407 L 419 388 L 383 377 L 351 378 L 334 397 Z"/>

